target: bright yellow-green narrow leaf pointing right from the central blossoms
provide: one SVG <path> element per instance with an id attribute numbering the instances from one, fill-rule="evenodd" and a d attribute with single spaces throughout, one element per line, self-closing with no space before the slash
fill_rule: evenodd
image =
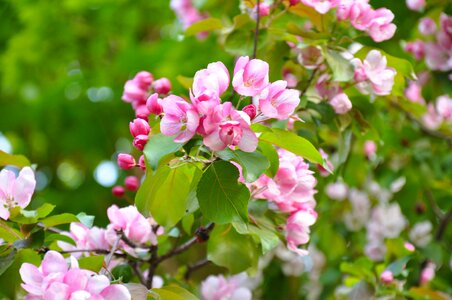
<path id="1" fill-rule="evenodd" d="M 319 151 L 307 139 L 293 132 L 274 128 L 272 132 L 264 132 L 259 137 L 261 142 L 272 144 L 299 155 L 313 163 L 322 164 Z"/>

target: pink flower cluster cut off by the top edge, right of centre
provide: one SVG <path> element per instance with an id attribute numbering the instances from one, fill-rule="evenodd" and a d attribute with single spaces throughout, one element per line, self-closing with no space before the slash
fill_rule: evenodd
<path id="1" fill-rule="evenodd" d="M 394 14 L 389 9 L 373 9 L 368 0 L 290 0 L 290 3 L 303 3 L 321 14 L 337 8 L 338 20 L 349 20 L 353 27 L 367 32 L 375 42 L 392 38 L 397 28 L 392 23 Z"/>

